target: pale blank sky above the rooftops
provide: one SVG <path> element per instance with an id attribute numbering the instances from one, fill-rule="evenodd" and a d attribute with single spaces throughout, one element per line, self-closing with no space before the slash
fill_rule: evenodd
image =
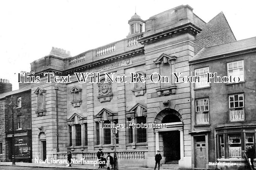
<path id="1" fill-rule="evenodd" d="M 128 20 L 190 5 L 208 22 L 223 11 L 237 40 L 256 36 L 256 0 L 0 0 L 0 78 L 18 89 L 17 73 L 52 46 L 77 55 L 124 39 Z"/>

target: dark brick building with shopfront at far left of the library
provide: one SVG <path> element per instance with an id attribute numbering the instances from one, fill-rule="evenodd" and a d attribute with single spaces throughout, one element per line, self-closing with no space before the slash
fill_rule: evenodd
<path id="1" fill-rule="evenodd" d="M 12 99 L 14 106 L 15 161 L 31 162 L 30 86 L 0 94 L 0 161 L 12 160 Z"/>

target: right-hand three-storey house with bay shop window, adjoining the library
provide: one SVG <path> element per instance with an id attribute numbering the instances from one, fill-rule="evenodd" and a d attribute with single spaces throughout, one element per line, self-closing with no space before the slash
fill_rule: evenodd
<path id="1" fill-rule="evenodd" d="M 193 168 L 215 169 L 208 162 L 217 160 L 219 169 L 246 170 L 244 151 L 256 136 L 255 57 L 256 37 L 203 48 L 189 62 L 191 74 L 202 76 L 191 85 Z M 207 83 L 207 73 L 240 82 Z"/>

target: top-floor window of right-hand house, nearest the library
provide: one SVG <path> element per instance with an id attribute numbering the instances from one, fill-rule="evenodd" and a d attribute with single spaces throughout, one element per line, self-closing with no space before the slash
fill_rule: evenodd
<path id="1" fill-rule="evenodd" d="M 200 76 L 200 81 L 195 83 L 195 88 L 210 86 L 207 83 L 207 73 L 209 73 L 209 67 L 195 69 L 195 76 Z"/>

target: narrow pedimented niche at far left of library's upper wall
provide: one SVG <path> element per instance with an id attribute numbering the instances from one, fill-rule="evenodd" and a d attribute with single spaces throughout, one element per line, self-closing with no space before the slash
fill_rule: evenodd
<path id="1" fill-rule="evenodd" d="M 36 111 L 37 117 L 45 116 L 45 114 L 46 114 L 46 108 L 45 108 L 46 90 L 37 88 L 37 90 L 34 93 L 37 95 L 37 111 Z"/>

